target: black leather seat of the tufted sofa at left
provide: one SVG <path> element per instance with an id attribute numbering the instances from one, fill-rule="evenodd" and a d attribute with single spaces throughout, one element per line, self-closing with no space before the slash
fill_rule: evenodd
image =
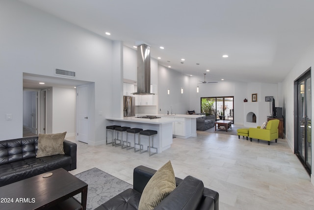
<path id="1" fill-rule="evenodd" d="M 57 154 L 11 162 L 0 167 L 0 186 L 43 174 L 71 164 L 71 156 Z"/>

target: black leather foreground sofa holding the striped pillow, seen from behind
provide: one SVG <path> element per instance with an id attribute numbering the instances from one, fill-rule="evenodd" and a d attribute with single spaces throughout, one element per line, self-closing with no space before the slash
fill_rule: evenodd
<path id="1" fill-rule="evenodd" d="M 137 210 L 141 194 L 156 170 L 138 166 L 133 171 L 133 189 L 127 189 L 95 210 Z M 205 188 L 201 180 L 176 178 L 177 187 L 154 210 L 218 210 L 218 192 Z"/>

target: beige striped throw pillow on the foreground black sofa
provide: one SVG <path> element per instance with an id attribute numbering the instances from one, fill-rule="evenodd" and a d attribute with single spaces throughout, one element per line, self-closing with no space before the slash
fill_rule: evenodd
<path id="1" fill-rule="evenodd" d="M 146 184 L 138 210 L 153 210 L 176 188 L 175 173 L 171 162 L 164 164 Z"/>

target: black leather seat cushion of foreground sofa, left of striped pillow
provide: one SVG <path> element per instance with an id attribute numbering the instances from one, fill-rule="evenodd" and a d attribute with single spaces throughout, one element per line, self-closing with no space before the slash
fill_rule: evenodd
<path id="1" fill-rule="evenodd" d="M 137 210 L 140 198 L 139 192 L 134 189 L 127 189 L 95 210 Z"/>

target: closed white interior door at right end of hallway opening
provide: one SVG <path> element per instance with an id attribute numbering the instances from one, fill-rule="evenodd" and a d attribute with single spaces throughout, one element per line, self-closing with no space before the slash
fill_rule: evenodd
<path id="1" fill-rule="evenodd" d="M 77 140 L 88 143 L 88 86 L 77 87 Z"/>

